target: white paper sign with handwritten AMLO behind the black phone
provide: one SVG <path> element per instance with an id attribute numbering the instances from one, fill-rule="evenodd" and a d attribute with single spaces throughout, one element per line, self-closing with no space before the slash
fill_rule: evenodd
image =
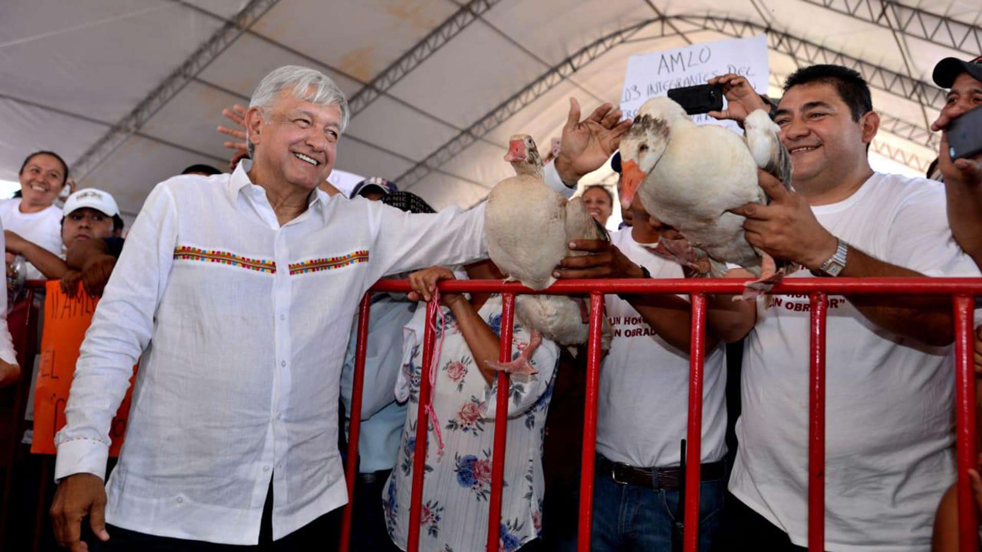
<path id="1" fill-rule="evenodd" d="M 665 96 L 671 88 L 705 84 L 713 77 L 727 73 L 745 77 L 753 89 L 766 93 L 770 71 L 766 34 L 630 56 L 621 94 L 621 111 L 626 118 L 633 119 L 649 98 Z M 742 134 L 732 121 L 721 122 L 708 115 L 691 117 L 698 125 L 724 124 Z"/>

